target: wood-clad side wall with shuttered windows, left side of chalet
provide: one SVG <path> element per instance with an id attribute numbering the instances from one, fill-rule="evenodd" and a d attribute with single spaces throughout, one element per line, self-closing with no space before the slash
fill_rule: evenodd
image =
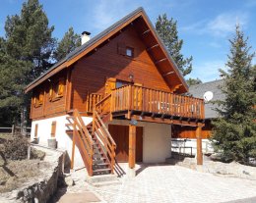
<path id="1" fill-rule="evenodd" d="M 67 71 L 64 70 L 60 72 L 59 74 L 53 76 L 49 80 L 46 80 L 39 86 L 33 89 L 32 98 L 34 96 L 34 93 L 40 91 L 43 89 L 44 96 L 43 96 L 43 103 L 41 106 L 34 107 L 33 104 L 31 104 L 31 119 L 44 119 L 44 118 L 50 118 L 53 116 L 60 116 L 65 113 L 66 111 L 66 87 L 64 87 L 63 96 L 53 99 L 50 101 L 50 88 L 52 85 L 52 82 L 57 82 L 59 78 L 66 79 Z M 66 85 L 66 82 L 64 82 L 64 85 Z"/>

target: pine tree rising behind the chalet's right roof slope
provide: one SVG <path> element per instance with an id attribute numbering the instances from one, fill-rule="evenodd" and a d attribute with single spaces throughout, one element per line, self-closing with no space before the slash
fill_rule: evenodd
<path id="1" fill-rule="evenodd" d="M 178 37 L 177 21 L 173 20 L 173 18 L 168 20 L 167 15 L 163 14 L 157 19 L 156 29 L 181 74 L 183 76 L 190 74 L 192 71 L 193 58 L 192 56 L 184 58 L 183 54 L 181 54 L 183 40 Z"/>

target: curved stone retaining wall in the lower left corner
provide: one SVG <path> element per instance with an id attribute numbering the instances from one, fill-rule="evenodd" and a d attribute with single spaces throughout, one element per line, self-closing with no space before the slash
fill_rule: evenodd
<path id="1" fill-rule="evenodd" d="M 46 203 L 56 191 L 57 181 L 62 173 L 64 153 L 45 147 L 33 147 L 45 152 L 43 161 L 49 163 L 49 167 L 40 172 L 40 175 L 36 178 L 31 178 L 28 182 L 25 182 L 22 187 L 1 194 L 0 202 Z"/>

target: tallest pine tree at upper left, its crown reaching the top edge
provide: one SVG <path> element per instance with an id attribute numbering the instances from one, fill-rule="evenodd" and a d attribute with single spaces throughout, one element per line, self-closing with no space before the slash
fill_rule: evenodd
<path id="1" fill-rule="evenodd" d="M 53 29 L 54 26 L 48 26 L 47 16 L 38 0 L 28 0 L 20 15 L 7 17 L 7 54 L 33 64 L 27 83 L 52 66 L 51 55 L 56 44 L 56 39 L 51 37 Z"/>

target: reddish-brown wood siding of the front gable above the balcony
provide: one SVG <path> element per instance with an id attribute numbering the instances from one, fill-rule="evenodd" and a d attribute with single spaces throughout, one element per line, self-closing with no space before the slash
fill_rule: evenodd
<path id="1" fill-rule="evenodd" d="M 120 42 L 134 48 L 134 58 L 118 54 Z M 170 91 L 133 26 L 127 26 L 96 52 L 75 64 L 71 76 L 71 109 L 86 111 L 88 93 L 103 94 L 107 78 L 129 80 L 129 75 L 134 76 L 134 82 L 145 87 Z"/>

